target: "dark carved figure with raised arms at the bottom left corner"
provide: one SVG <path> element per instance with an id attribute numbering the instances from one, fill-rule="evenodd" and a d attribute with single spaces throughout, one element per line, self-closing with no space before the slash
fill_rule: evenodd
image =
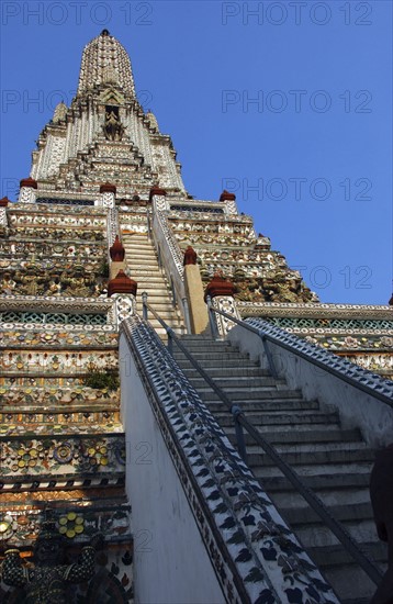
<path id="1" fill-rule="evenodd" d="M 66 604 L 67 584 L 82 583 L 94 574 L 96 548 L 102 536 L 82 548 L 78 562 L 64 564 L 63 537 L 53 522 L 45 522 L 34 546 L 34 568 L 22 564 L 19 549 L 5 551 L 2 577 L 7 585 L 23 588 L 25 604 Z"/>

